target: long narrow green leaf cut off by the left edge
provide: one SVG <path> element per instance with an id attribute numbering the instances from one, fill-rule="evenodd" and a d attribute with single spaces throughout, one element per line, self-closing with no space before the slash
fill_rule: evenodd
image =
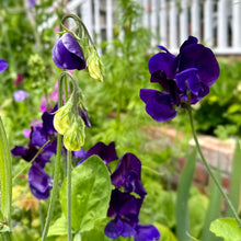
<path id="1" fill-rule="evenodd" d="M 1 181 L 1 213 L 11 227 L 12 204 L 12 162 L 5 130 L 0 117 L 0 181 Z"/>

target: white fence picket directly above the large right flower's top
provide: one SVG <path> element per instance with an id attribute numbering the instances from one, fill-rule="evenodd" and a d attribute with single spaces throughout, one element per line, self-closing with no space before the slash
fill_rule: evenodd
<path id="1" fill-rule="evenodd" d="M 193 36 L 200 38 L 200 8 L 199 0 L 193 0 L 191 7 L 191 33 Z"/>

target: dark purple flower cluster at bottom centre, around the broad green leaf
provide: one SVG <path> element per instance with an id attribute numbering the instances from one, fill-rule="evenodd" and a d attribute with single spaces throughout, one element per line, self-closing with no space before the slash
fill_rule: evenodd
<path id="1" fill-rule="evenodd" d="M 99 156 L 106 165 L 117 160 L 115 144 L 105 145 L 97 142 L 89 151 L 82 153 L 81 164 L 89 157 Z M 160 238 L 158 229 L 152 225 L 139 225 L 139 211 L 147 192 L 145 191 L 141 177 L 141 162 L 133 153 L 125 153 L 115 171 L 111 175 L 112 191 L 107 217 L 114 218 L 105 227 L 105 236 L 111 239 L 122 237 L 134 237 L 135 241 L 152 241 Z M 139 197 L 134 196 L 136 193 Z"/>

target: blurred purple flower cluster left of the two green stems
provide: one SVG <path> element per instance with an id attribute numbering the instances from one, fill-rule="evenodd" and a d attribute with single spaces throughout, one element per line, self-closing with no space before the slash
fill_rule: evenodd
<path id="1" fill-rule="evenodd" d="M 53 111 L 56 111 L 56 108 Z M 44 171 L 46 163 L 50 161 L 53 154 L 56 154 L 57 149 L 53 118 L 51 113 L 43 113 L 43 124 L 32 126 L 28 146 L 16 146 L 11 150 L 14 157 L 21 157 L 27 162 L 35 158 L 28 171 L 28 183 L 32 194 L 38 199 L 48 198 L 53 187 L 53 179 Z M 50 142 L 44 146 L 48 140 Z M 43 151 L 37 154 L 43 146 Z"/>

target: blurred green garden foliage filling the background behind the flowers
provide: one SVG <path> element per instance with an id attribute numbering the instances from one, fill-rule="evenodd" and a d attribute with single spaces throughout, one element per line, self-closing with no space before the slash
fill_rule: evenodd
<path id="1" fill-rule="evenodd" d="M 0 3 L 0 58 L 9 62 L 8 70 L 1 73 L 0 115 L 11 148 L 27 144 L 23 129 L 30 128 L 33 119 L 41 119 L 43 96 L 55 90 L 60 73 L 53 64 L 51 48 L 57 38 L 55 28 L 66 13 L 64 1 L 42 0 L 32 9 L 24 7 L 26 2 L 4 0 Z M 58 19 L 41 31 L 39 27 L 49 20 L 53 11 Z M 88 150 L 96 141 L 115 141 L 119 157 L 133 152 L 141 160 L 142 182 L 148 195 L 140 220 L 142 223 L 157 225 L 162 232 L 162 240 L 175 241 L 176 192 L 172 186 L 172 176 L 177 172 L 177 158 L 187 154 L 188 138 L 184 138 L 182 145 L 169 146 L 164 139 L 154 141 L 145 131 L 149 126 L 160 126 L 146 114 L 139 99 L 141 88 L 153 87 L 149 82 L 148 59 L 159 49 L 150 49 L 151 33 L 138 24 L 141 12 L 136 2 L 119 1 L 115 38 L 112 43 L 97 46 L 105 68 L 103 83 L 95 82 L 84 71 L 74 72 L 85 95 L 92 124 L 92 128 L 87 129 L 83 148 Z M 124 33 L 123 37 L 120 32 Z M 210 88 L 210 94 L 194 106 L 195 122 L 199 133 L 222 139 L 240 137 L 241 62 L 218 60 L 220 78 Z M 20 76 L 23 80 L 18 82 Z M 13 93 L 16 90 L 25 90 L 30 97 L 23 102 L 14 101 Z M 55 103 L 49 104 L 54 106 Z M 162 126 L 175 126 L 187 137 L 191 135 L 186 113 L 180 113 L 174 120 Z M 50 175 L 54 171 L 53 162 L 47 164 Z M 18 173 L 23 163 L 23 160 L 14 159 L 13 171 Z M 27 170 L 14 183 L 13 205 L 15 240 L 37 240 L 45 220 L 47 202 L 38 202 L 31 195 Z M 199 239 L 208 197 L 193 186 L 188 206 L 191 234 Z M 56 218 L 59 208 L 56 208 Z"/>

